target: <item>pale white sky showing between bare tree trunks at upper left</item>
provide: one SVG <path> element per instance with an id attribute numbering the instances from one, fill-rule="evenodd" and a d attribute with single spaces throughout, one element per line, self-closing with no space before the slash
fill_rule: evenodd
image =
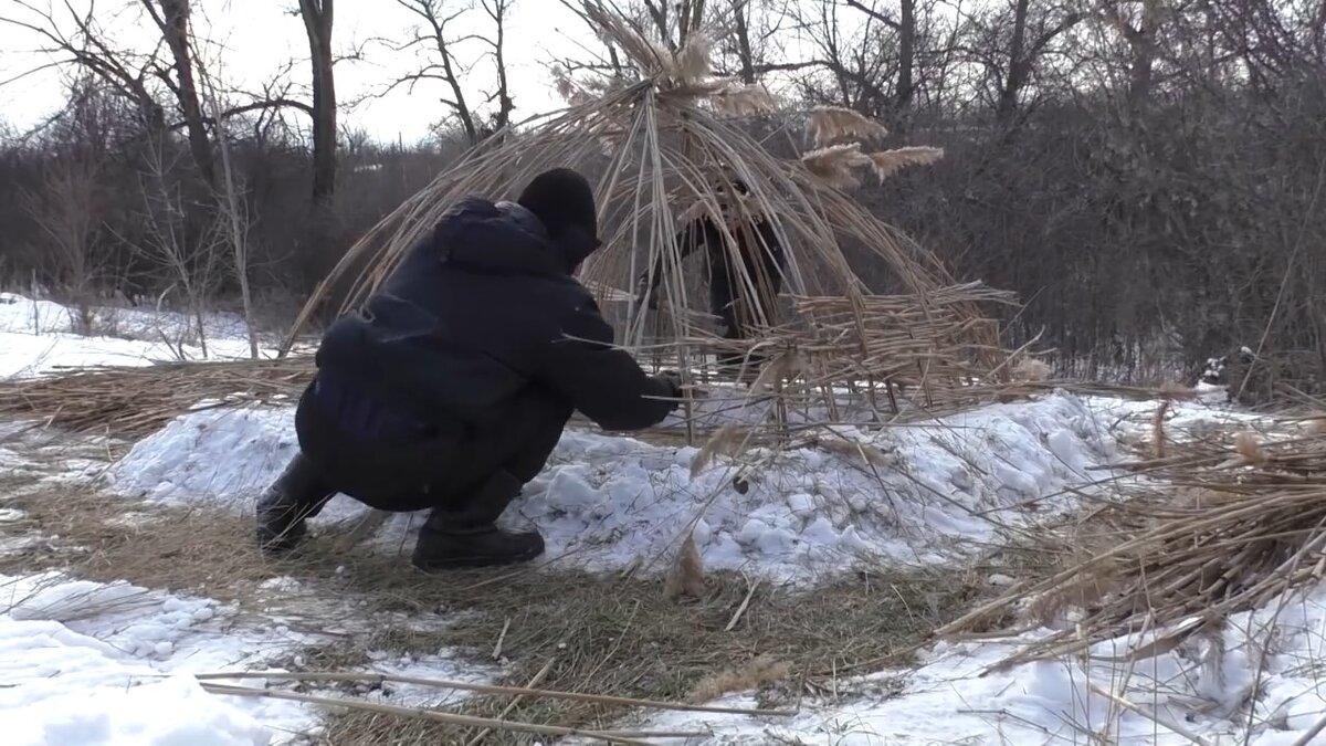
<path id="1" fill-rule="evenodd" d="M 85 11 L 93 0 L 0 0 L 0 17 L 49 25 L 41 13 L 54 8 L 58 28 L 72 33 L 73 16 L 66 3 Z M 471 0 L 439 0 L 440 7 L 460 9 Z M 489 36 L 492 20 L 473 0 L 473 9 L 455 23 L 448 36 Z M 25 8 L 27 5 L 28 8 Z M 309 80 L 308 38 L 294 11 L 297 0 L 194 0 L 195 35 L 203 40 L 202 57 L 207 69 L 232 89 L 259 90 L 276 78 L 293 61 L 290 76 L 298 86 Z M 453 11 L 452 11 L 453 12 Z M 150 49 L 155 27 L 146 20 L 139 0 L 95 0 L 97 23 L 118 46 Z M 335 0 L 333 46 L 346 56 L 362 49 L 362 60 L 343 60 L 335 66 L 337 97 L 342 126 L 366 130 L 383 142 L 398 139 L 412 143 L 427 138 L 430 126 L 447 115 L 439 102 L 440 81 L 426 81 L 414 92 L 398 88 L 382 98 L 362 100 L 378 93 L 392 80 L 418 69 L 411 52 L 394 52 L 374 40 L 389 38 L 396 44 L 412 37 L 420 19 L 396 0 Z M 451 31 L 451 27 L 448 27 Z M 50 57 L 33 52 L 44 40 L 30 31 L 0 23 L 0 122 L 20 131 L 41 122 L 64 102 L 61 73 L 45 69 Z M 586 58 L 586 49 L 595 46 L 593 33 L 583 21 L 560 0 L 514 0 L 507 24 L 508 77 L 516 100 L 516 118 L 521 119 L 564 106 L 548 73 L 548 64 L 557 58 Z M 460 61 L 473 65 L 464 77 L 467 98 L 481 102 L 481 92 L 496 82 L 491 60 L 480 58 L 488 46 L 469 40 L 457 48 Z M 597 49 L 595 49 L 597 52 Z M 21 76 L 21 77 L 20 77 Z M 13 78 L 19 80 L 13 80 Z M 304 96 L 300 96 L 304 98 Z"/>

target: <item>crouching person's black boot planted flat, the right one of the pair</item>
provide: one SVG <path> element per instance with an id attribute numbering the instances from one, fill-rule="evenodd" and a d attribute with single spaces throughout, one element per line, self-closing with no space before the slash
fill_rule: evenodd
<path id="1" fill-rule="evenodd" d="M 438 572 L 529 561 L 544 554 L 537 531 L 497 528 L 497 516 L 520 495 L 521 486 L 520 479 L 500 471 L 460 510 L 434 508 L 419 530 L 414 565 Z"/>

